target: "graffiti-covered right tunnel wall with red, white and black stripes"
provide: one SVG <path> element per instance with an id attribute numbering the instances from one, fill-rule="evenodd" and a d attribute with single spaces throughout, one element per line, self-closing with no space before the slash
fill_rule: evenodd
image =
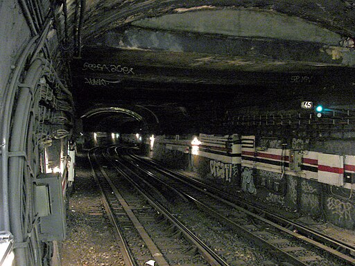
<path id="1" fill-rule="evenodd" d="M 192 137 L 158 136 L 153 149 L 146 141 L 146 152 L 228 193 L 355 229 L 354 155 L 304 150 L 302 139 L 288 144 L 237 134 L 199 139 L 194 148 Z"/>

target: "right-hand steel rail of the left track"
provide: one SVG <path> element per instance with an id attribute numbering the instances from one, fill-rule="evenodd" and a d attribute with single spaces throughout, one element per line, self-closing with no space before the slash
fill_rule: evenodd
<path id="1" fill-rule="evenodd" d="M 116 163 L 119 163 L 121 167 L 119 168 L 118 166 L 116 166 Z M 116 163 L 112 163 L 112 167 L 114 167 L 118 172 L 120 172 L 121 175 L 125 176 L 131 182 L 132 186 L 134 186 L 137 191 L 139 191 L 139 193 L 141 193 L 141 195 L 146 198 L 146 200 L 149 202 L 149 204 L 153 206 L 154 209 L 159 211 L 159 213 L 162 213 L 172 224 L 174 224 L 175 227 L 178 228 L 184 234 L 184 236 L 198 248 L 200 254 L 207 260 L 210 265 L 228 266 L 228 264 L 223 260 L 223 258 L 220 258 L 218 254 L 216 254 L 210 247 L 208 247 L 205 242 L 200 240 L 192 231 L 185 227 L 184 224 L 182 224 L 182 222 L 175 218 L 173 214 L 171 214 L 164 206 L 162 206 L 162 204 L 157 202 L 151 195 L 144 192 L 144 189 L 142 190 L 141 186 L 135 180 L 133 180 L 130 175 L 125 173 L 121 168 L 129 170 L 130 173 L 138 177 L 140 181 L 144 181 L 144 179 L 139 177 L 139 175 L 133 172 L 130 168 L 127 168 L 125 164 L 121 161 L 116 160 Z"/>

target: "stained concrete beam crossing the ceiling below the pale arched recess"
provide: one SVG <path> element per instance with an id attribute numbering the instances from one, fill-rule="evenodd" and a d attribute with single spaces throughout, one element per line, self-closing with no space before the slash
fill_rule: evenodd
<path id="1" fill-rule="evenodd" d="M 234 57 L 253 62 L 269 60 L 270 64 L 302 62 L 306 65 L 340 65 L 355 67 L 355 51 L 352 48 L 329 46 L 317 42 L 304 42 L 265 37 L 236 37 L 216 34 L 187 33 L 166 30 L 150 30 L 130 27 L 111 30 L 88 44 L 152 51 L 179 53 L 205 53 L 230 56 L 229 64 L 244 65 Z M 226 60 L 227 61 L 227 60 Z M 266 67 L 268 69 L 268 67 Z"/>

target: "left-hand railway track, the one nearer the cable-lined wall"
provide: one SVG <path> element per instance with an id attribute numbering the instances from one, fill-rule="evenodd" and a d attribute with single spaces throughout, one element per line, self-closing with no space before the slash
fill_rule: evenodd
<path id="1" fill-rule="evenodd" d="M 111 167 L 103 152 L 92 150 L 89 159 L 107 215 L 121 243 L 125 265 L 144 265 L 152 260 L 159 266 L 228 265 L 155 197 L 147 195 L 136 183 L 139 177 L 128 168 Z M 155 192 L 147 186 L 144 189 Z"/>

